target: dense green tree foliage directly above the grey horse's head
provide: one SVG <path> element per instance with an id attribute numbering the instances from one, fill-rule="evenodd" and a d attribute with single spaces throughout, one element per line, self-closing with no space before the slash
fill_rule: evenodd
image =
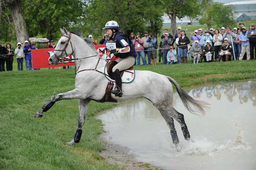
<path id="1" fill-rule="evenodd" d="M 30 37 L 38 34 L 48 39 L 60 37 L 60 27 L 70 28 L 83 13 L 81 0 L 23 0 L 23 10 Z"/>

